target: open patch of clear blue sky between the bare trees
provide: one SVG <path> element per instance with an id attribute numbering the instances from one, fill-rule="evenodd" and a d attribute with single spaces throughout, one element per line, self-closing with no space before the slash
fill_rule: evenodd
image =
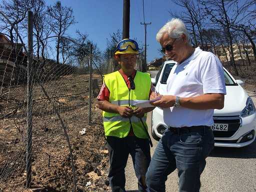
<path id="1" fill-rule="evenodd" d="M 53 4 L 55 0 L 46 0 Z M 77 21 L 67 33 L 75 36 L 76 29 L 87 33 L 88 38 L 96 43 L 101 51 L 106 48 L 106 38 L 117 29 L 122 31 L 123 0 L 61 0 L 62 5 L 70 6 Z M 145 22 L 147 25 L 147 61 L 159 58 L 160 45 L 155 35 L 160 27 L 171 19 L 168 10 L 180 9 L 171 0 L 144 0 Z M 138 43 L 144 44 L 144 26 L 142 0 L 130 0 L 130 38 L 136 38 Z"/>

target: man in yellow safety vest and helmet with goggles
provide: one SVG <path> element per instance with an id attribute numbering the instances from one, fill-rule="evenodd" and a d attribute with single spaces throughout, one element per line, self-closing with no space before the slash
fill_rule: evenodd
<path id="1" fill-rule="evenodd" d="M 139 191 L 145 191 L 145 173 L 150 162 L 146 112 L 153 107 L 135 107 L 151 93 L 150 75 L 134 69 L 137 42 L 123 39 L 116 45 L 114 58 L 120 69 L 103 77 L 97 107 L 103 110 L 103 125 L 109 152 L 109 183 L 112 191 L 125 191 L 124 168 L 131 155 Z"/>

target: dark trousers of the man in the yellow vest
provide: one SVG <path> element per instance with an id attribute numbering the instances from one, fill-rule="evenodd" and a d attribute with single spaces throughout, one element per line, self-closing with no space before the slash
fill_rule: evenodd
<path id="1" fill-rule="evenodd" d="M 108 179 L 112 191 L 125 191 L 124 168 L 130 154 L 133 167 L 138 179 L 139 191 L 145 191 L 145 174 L 150 163 L 150 147 L 148 139 L 136 136 L 126 136 L 119 138 L 107 136 L 107 147 L 109 154 L 109 173 Z"/>

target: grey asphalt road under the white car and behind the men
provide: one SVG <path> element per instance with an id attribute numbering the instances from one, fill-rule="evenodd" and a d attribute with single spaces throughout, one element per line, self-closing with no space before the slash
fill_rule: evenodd
<path id="1" fill-rule="evenodd" d="M 152 77 L 155 74 L 152 74 Z M 256 104 L 256 93 L 248 92 Z M 147 125 L 150 127 L 150 113 Z M 157 141 L 154 139 L 151 156 Z M 256 191 L 256 141 L 242 148 L 215 147 L 206 158 L 206 166 L 201 175 L 201 192 L 255 192 Z M 137 181 L 129 156 L 125 168 L 126 190 L 136 191 Z M 166 181 L 166 191 L 178 191 L 177 171 L 173 171 Z"/>

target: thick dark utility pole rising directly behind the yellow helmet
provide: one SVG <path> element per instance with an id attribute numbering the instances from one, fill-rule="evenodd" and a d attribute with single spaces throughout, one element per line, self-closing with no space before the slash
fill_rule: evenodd
<path id="1" fill-rule="evenodd" d="M 122 39 L 129 38 L 130 0 L 123 0 Z"/>

